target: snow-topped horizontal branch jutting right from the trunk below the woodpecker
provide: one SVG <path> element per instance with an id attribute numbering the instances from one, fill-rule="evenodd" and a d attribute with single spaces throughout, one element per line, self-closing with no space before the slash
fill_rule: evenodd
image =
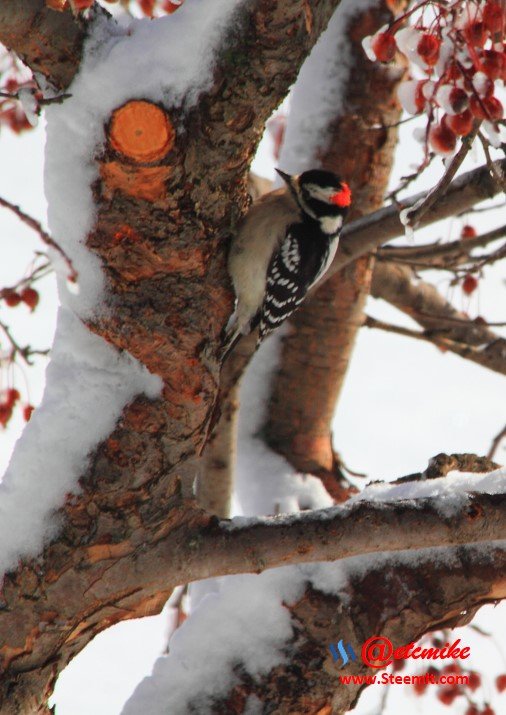
<path id="1" fill-rule="evenodd" d="M 366 488 L 346 505 L 221 522 L 187 566 L 192 579 L 506 539 L 506 471 Z M 197 565 L 197 562 L 199 565 Z M 195 564 L 195 565 L 194 565 Z M 194 570 L 197 569 L 197 571 Z"/>

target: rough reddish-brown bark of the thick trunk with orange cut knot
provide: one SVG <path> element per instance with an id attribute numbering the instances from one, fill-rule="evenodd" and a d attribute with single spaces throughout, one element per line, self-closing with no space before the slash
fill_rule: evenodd
<path id="1" fill-rule="evenodd" d="M 209 558 L 202 557 L 202 546 L 212 553 L 216 520 L 188 494 L 217 391 L 219 334 L 231 308 L 226 240 L 247 205 L 246 168 L 265 120 L 337 5 L 256 0 L 223 54 L 212 90 L 188 117 L 177 107 L 139 107 L 136 98 L 111 117 L 88 245 L 102 259 L 114 310 L 89 327 L 160 375 L 164 390 L 158 400 L 140 397 L 125 408 L 91 455 L 81 492 L 69 495 L 56 515 L 58 536 L 37 559 L 6 574 L 0 592 L 2 712 L 48 713 L 57 674 L 96 633 L 158 612 L 176 583 L 223 573 L 223 558 L 210 571 Z M 42 0 L 2 3 L 0 41 L 58 89 L 66 89 L 78 69 L 83 38 L 70 15 L 50 16 Z M 139 121 L 147 124 L 135 139 L 122 117 L 139 109 Z M 178 122 L 186 133 L 174 133 Z M 159 131 L 149 131 L 153 123 Z M 479 517 L 490 516 L 492 502 L 478 500 Z M 224 533 L 228 553 L 226 541 L 235 537 Z M 451 538 L 446 533 L 443 543 Z M 294 553 L 305 558 L 304 549 Z M 495 556 L 495 565 L 502 565 L 503 556 Z M 462 561 L 470 563 L 472 553 Z M 448 618 L 450 600 L 469 606 L 503 596 L 495 567 L 487 564 L 482 573 L 479 563 L 473 593 L 468 579 L 452 581 L 447 598 L 435 596 L 441 608 L 430 623 Z M 225 566 L 237 564 L 231 559 Z M 426 627 L 424 620 L 419 632 Z"/>

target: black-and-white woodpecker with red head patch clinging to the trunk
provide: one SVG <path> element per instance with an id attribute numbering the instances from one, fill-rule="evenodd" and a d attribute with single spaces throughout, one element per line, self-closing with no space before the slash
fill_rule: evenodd
<path id="1" fill-rule="evenodd" d="M 228 272 L 236 306 L 223 333 L 223 357 L 258 327 L 257 347 L 302 303 L 326 273 L 351 204 L 347 183 L 310 169 L 253 204 L 233 238 Z"/>

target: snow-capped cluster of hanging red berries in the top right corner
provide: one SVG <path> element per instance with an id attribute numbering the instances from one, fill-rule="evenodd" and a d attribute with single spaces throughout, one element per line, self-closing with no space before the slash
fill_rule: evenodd
<path id="1" fill-rule="evenodd" d="M 406 26 L 410 17 L 414 24 Z M 407 57 L 413 78 L 400 85 L 401 104 L 410 114 L 425 112 L 426 141 L 451 154 L 476 120 L 485 120 L 492 143 L 500 143 L 504 110 L 496 93 L 506 80 L 505 28 L 501 0 L 426 0 L 365 38 L 364 49 L 380 62 L 397 51 Z"/>

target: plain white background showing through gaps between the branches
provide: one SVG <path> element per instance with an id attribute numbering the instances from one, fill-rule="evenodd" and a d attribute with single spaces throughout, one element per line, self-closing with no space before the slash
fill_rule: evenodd
<path id="1" fill-rule="evenodd" d="M 406 165 L 421 156 L 419 147 L 411 140 L 412 124 L 401 128 L 402 159 L 395 170 L 398 177 L 411 171 Z M 28 213 L 44 219 L 45 204 L 42 190 L 43 132 L 29 132 L 15 137 L 8 131 L 0 135 L 0 195 L 19 203 Z M 479 157 L 481 162 L 482 157 Z M 469 161 L 467 168 L 471 168 Z M 269 172 L 263 162 L 258 171 Z M 428 187 L 434 182 L 440 163 L 436 162 L 410 192 Z M 504 210 L 502 210 L 504 217 Z M 501 215 L 495 212 L 471 217 L 481 231 L 499 225 Z M 502 218 L 504 222 L 504 218 Z M 435 238 L 457 238 L 462 221 L 453 221 L 453 230 L 435 226 L 417 232 L 416 241 Z M 0 209 L 2 257 L 0 259 L 0 286 L 8 285 L 23 274 L 31 260 L 34 248 L 41 249 L 37 236 L 22 227 L 7 211 Z M 446 294 L 444 274 L 435 276 Z M 53 279 L 40 283 L 41 305 L 33 315 L 20 305 L 15 309 L 1 310 L 2 319 L 13 320 L 16 336 L 21 342 L 34 347 L 50 344 L 54 331 L 56 295 Z M 506 286 L 501 264 L 488 269 L 486 280 L 471 300 L 464 298 L 459 289 L 453 297 L 457 307 L 467 309 L 471 316 L 481 313 L 493 321 L 506 319 Z M 409 319 L 380 301 L 369 302 L 367 310 L 376 317 L 413 325 Z M 43 365 L 44 361 L 40 361 Z M 28 371 L 30 399 L 35 404 L 43 389 L 43 371 Z M 17 375 L 16 384 L 25 394 L 23 378 Z M 492 437 L 504 423 L 506 397 L 504 378 L 462 360 L 449 353 L 441 354 L 429 344 L 407 338 L 362 330 L 353 356 L 350 371 L 334 423 L 336 448 L 345 461 L 369 477 L 394 478 L 426 466 L 427 460 L 438 452 L 469 451 L 485 453 Z M 19 417 L 0 433 L 0 470 L 5 468 L 14 440 L 22 429 Z M 506 451 L 497 455 L 505 461 Z M 40 475 L 44 479 L 44 475 Z M 500 645 L 505 629 L 504 608 L 495 611 L 482 609 L 478 622 L 493 631 Z M 501 615 L 500 615 L 501 614 Z M 150 672 L 154 658 L 165 645 L 167 614 L 157 618 L 120 624 L 95 641 L 78 656 L 61 677 L 55 702 L 57 715 L 116 715 L 138 680 Z M 459 635 L 464 633 L 460 631 Z M 462 636 L 466 638 L 468 635 Z M 472 640 L 472 642 L 471 642 Z M 506 663 L 497 657 L 490 642 L 469 636 L 473 647 L 473 661 L 480 671 L 484 664 L 498 672 L 506 671 Z M 393 697 L 405 698 L 402 686 L 393 688 Z M 357 713 L 375 712 L 374 698 L 369 688 L 367 701 Z M 459 701 L 457 701 L 459 702 Z M 502 700 L 504 703 L 504 699 Z M 413 712 L 427 712 L 425 699 L 411 699 Z M 417 710 L 419 708 L 419 710 Z M 391 712 L 395 712 L 393 704 Z M 439 712 L 431 705 L 430 711 Z M 460 712 L 457 708 L 441 706 L 440 712 Z"/>

